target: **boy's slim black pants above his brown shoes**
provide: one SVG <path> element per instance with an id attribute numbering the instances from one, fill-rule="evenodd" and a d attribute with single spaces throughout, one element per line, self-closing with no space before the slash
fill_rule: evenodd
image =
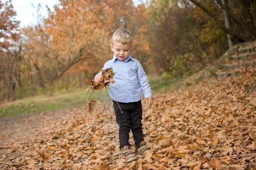
<path id="1" fill-rule="evenodd" d="M 132 131 L 135 147 L 140 147 L 140 142 L 143 141 L 142 131 L 142 105 L 141 101 L 122 103 L 118 102 L 122 112 L 113 100 L 113 107 L 116 114 L 116 122 L 119 125 L 119 144 L 120 149 L 125 145 L 131 146 L 129 143 L 129 132 Z"/>

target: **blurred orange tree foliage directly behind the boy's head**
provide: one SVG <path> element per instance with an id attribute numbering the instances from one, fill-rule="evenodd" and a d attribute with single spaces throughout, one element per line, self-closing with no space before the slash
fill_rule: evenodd
<path id="1" fill-rule="evenodd" d="M 118 10 L 116 10 L 118 9 Z M 150 54 L 148 41 L 148 12 L 144 3 L 134 5 L 132 0 L 97 0 L 93 6 L 97 27 L 111 36 L 117 28 L 125 28 L 133 36 L 132 56 L 142 64 Z"/>

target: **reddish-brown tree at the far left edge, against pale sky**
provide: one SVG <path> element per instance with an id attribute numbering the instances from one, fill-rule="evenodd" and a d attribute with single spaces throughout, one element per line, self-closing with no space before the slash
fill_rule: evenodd
<path id="1" fill-rule="evenodd" d="M 17 34 L 20 22 L 15 20 L 15 16 L 12 0 L 6 3 L 0 1 L 0 78 L 11 101 L 16 100 L 15 88 L 20 85 L 19 67 L 22 60 L 22 44 Z"/>

